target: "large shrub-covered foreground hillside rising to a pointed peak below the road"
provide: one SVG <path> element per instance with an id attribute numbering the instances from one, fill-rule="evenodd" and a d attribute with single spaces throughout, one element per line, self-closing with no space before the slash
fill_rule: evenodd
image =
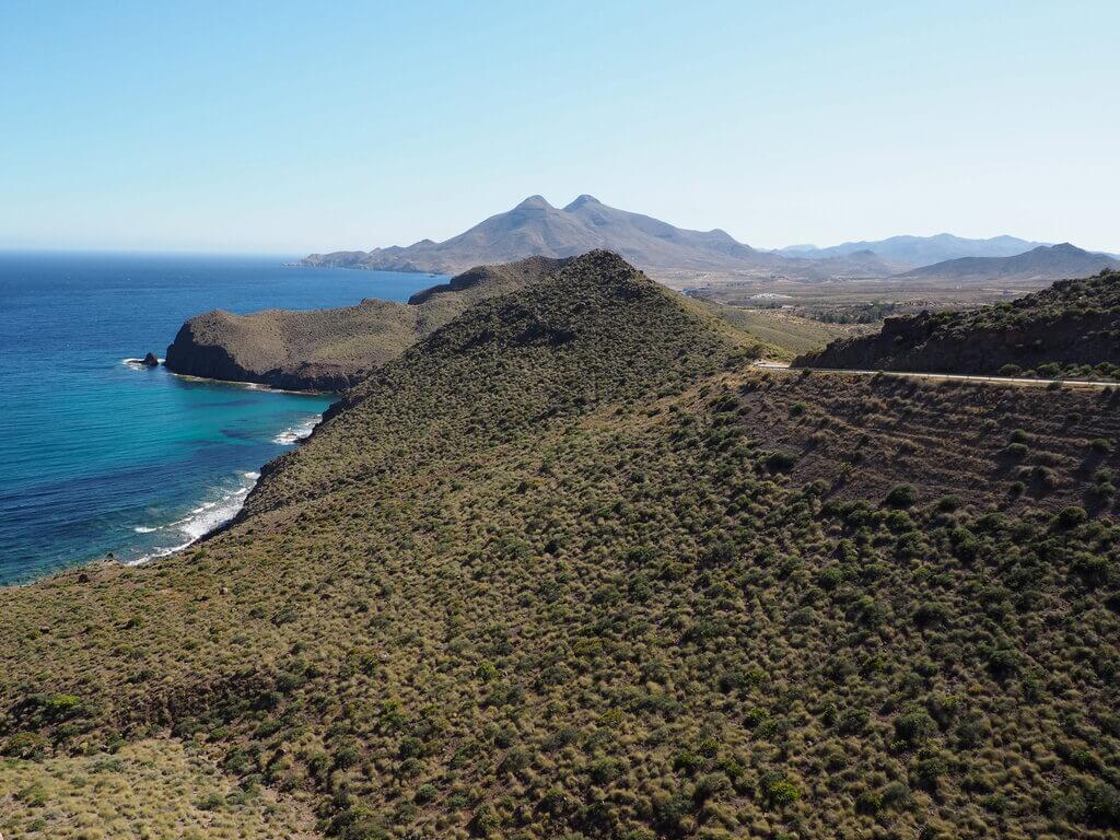
<path id="1" fill-rule="evenodd" d="M 479 302 L 230 529 L 0 590 L 0 749 L 348 840 L 1113 836 L 1116 394 L 756 353 L 605 253 Z"/>

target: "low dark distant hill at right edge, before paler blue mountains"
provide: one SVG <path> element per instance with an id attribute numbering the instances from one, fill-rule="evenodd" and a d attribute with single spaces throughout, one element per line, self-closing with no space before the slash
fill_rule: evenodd
<path id="1" fill-rule="evenodd" d="M 1039 245 L 1015 256 L 963 256 L 925 265 L 897 277 L 908 280 L 941 279 L 954 282 L 1040 281 L 1088 277 L 1105 269 L 1120 269 L 1120 260 L 1090 253 L 1063 242 Z"/>

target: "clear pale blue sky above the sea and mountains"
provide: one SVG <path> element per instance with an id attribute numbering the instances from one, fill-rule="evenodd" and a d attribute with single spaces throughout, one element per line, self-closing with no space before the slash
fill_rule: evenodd
<path id="1" fill-rule="evenodd" d="M 2 0 L 0 248 L 368 249 L 591 193 L 757 246 L 1120 251 L 1118 31 L 1117 0 Z"/>

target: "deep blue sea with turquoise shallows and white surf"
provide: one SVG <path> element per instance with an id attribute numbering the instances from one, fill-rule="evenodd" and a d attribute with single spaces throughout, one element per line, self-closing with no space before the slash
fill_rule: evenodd
<path id="1" fill-rule="evenodd" d="M 0 585 L 189 543 L 330 404 L 124 360 L 162 358 L 208 309 L 405 300 L 445 280 L 291 259 L 0 252 Z"/>

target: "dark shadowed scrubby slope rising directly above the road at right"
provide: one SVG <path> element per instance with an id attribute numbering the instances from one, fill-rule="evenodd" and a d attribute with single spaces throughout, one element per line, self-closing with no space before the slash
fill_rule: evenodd
<path id="1" fill-rule="evenodd" d="M 887 318 L 878 335 L 840 339 L 795 366 L 936 373 L 1116 376 L 1120 272 L 1062 280 L 1015 301 Z"/>

